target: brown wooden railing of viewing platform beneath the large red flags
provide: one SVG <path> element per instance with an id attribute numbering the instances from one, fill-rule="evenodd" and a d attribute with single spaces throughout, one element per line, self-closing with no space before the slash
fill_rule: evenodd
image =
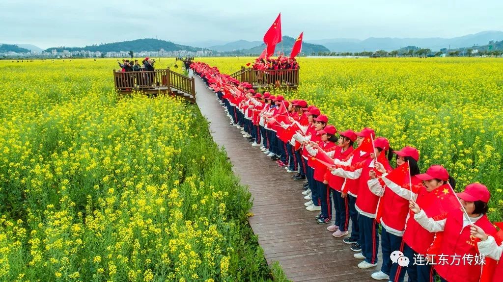
<path id="1" fill-rule="evenodd" d="M 241 67 L 240 70 L 230 74 L 240 82 L 248 82 L 257 88 L 286 88 L 297 89 L 299 86 L 299 70 L 254 70 Z"/>

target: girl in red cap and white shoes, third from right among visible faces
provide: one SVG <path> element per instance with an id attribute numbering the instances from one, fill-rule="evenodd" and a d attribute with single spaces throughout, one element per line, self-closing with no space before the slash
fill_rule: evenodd
<path id="1" fill-rule="evenodd" d="M 372 273 L 372 278 L 376 280 L 394 281 L 398 263 L 392 263 L 391 253 L 393 251 L 403 252 L 402 236 L 405 232 L 405 221 L 409 214 L 409 201 L 415 197 L 412 192 L 421 184 L 421 180 L 415 177 L 420 173 L 417 161 L 419 161 L 419 151 L 413 147 L 406 146 L 400 151 L 393 151 L 396 154 L 396 169 L 388 173 L 381 164 L 376 164 L 376 170 L 382 173 L 381 177 L 376 177 L 375 172 L 370 172 L 371 180 L 369 187 L 371 191 L 381 197 L 376 214 L 376 220 L 382 224 L 381 250 L 383 262 L 381 270 Z M 403 183 L 396 183 L 396 174 L 405 175 Z M 410 176 L 410 182 L 409 182 Z"/>

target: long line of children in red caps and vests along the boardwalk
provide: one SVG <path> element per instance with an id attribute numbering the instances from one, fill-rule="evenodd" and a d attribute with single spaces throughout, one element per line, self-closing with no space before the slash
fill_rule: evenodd
<path id="1" fill-rule="evenodd" d="M 305 100 L 256 93 L 202 62 L 191 68 L 251 146 L 295 173 L 293 180 L 306 180 L 305 208 L 319 212 L 316 222 L 351 245 L 358 267 L 375 267 L 381 245 L 382 266 L 372 278 L 403 281 L 407 273 L 420 282 L 437 275 L 450 282 L 503 280 L 503 232 L 486 216 L 486 186 L 472 183 L 456 194 L 443 166 L 420 172 L 416 148 L 393 151 L 372 128 L 337 129 Z"/>

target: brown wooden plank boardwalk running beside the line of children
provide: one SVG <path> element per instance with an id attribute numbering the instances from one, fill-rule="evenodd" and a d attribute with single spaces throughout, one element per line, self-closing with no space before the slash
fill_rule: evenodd
<path id="1" fill-rule="evenodd" d="M 353 257 L 350 245 L 332 237 L 328 224 L 317 224 L 317 212 L 305 209 L 303 182 L 293 181 L 293 174 L 252 147 L 239 129 L 229 125 L 213 91 L 198 77 L 195 84 L 196 102 L 210 121 L 213 140 L 227 151 L 240 183 L 249 187 L 255 214 L 249 223 L 269 265 L 278 261 L 292 281 L 375 281 L 370 274 L 380 270 L 380 261 L 377 267 L 358 268 L 361 260 Z"/>

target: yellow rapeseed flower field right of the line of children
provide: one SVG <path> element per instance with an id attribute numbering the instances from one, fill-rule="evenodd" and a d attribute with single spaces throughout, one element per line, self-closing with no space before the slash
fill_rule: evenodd
<path id="1" fill-rule="evenodd" d="M 254 58 L 198 58 L 233 73 Z M 503 216 L 503 60 L 500 58 L 299 58 L 298 91 L 338 129 L 372 127 L 393 149 L 416 147 L 424 172 L 444 165 L 461 191 L 491 191 L 491 220 Z"/>

